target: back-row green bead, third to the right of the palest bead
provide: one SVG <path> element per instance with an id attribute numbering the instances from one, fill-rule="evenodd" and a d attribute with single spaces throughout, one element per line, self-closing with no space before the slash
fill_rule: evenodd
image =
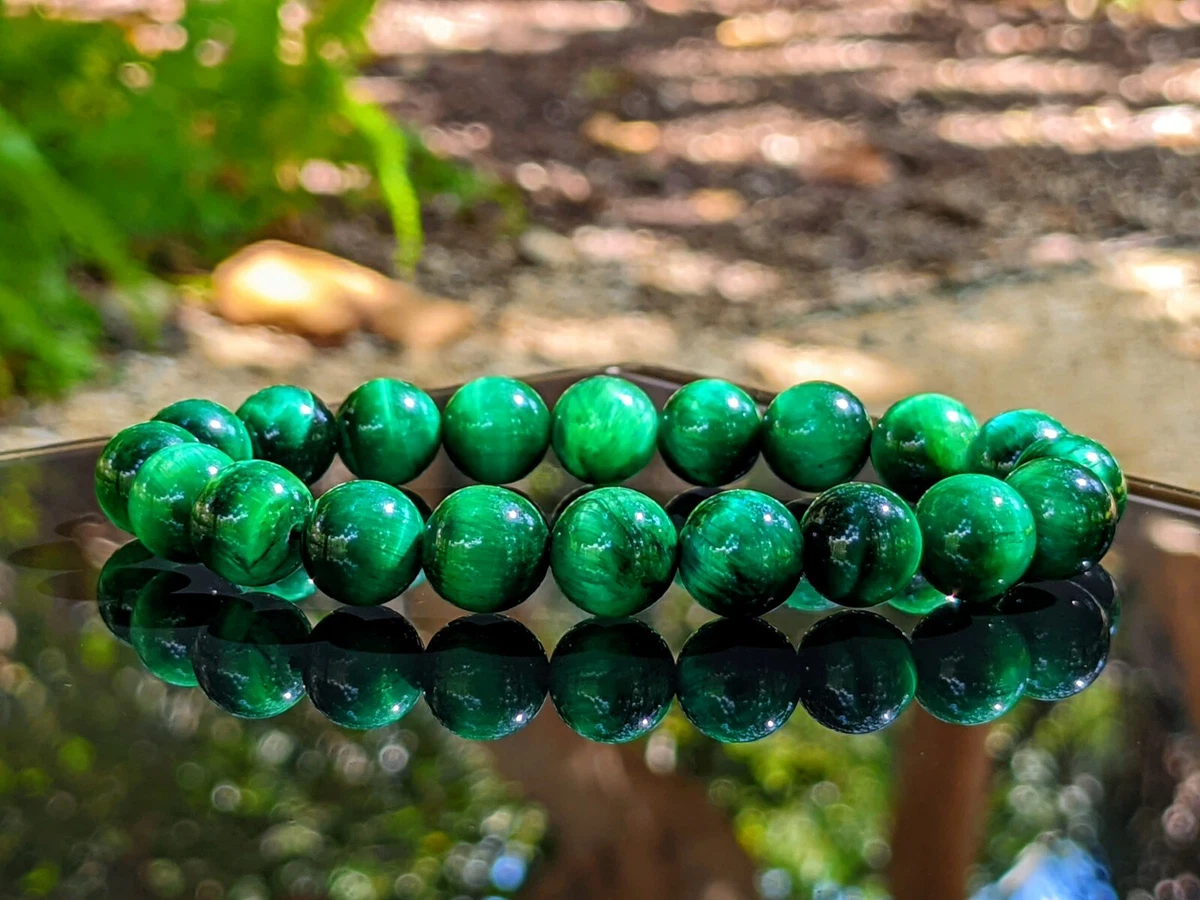
<path id="1" fill-rule="evenodd" d="M 907 500 L 935 482 L 971 469 L 979 426 L 971 410 L 942 394 L 916 394 L 894 403 L 871 436 L 871 462 L 883 484 Z"/>

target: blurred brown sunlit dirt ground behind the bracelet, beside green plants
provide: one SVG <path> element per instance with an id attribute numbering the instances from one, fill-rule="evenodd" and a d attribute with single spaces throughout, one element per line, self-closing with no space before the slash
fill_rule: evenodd
<path id="1" fill-rule="evenodd" d="M 1200 2 L 385 2 L 366 89 L 515 181 L 533 228 L 428 209 L 449 347 L 368 337 L 220 367 L 236 329 L 29 408 L 0 446 L 112 433 L 181 396 L 642 361 L 1037 406 L 1200 488 Z M 386 269 L 378 220 L 324 248 Z M 197 324 L 199 323 L 199 325 Z M 247 337 L 242 335 L 241 337 Z M 289 343 L 288 347 L 295 348 Z"/>

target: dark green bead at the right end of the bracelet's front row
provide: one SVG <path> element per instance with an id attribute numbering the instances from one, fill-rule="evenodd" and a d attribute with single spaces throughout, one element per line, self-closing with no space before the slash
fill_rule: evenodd
<path id="1" fill-rule="evenodd" d="M 1006 482 L 1028 504 L 1037 529 L 1031 580 L 1069 578 L 1096 565 L 1116 534 L 1117 505 L 1096 475 L 1067 460 L 1033 460 Z"/>

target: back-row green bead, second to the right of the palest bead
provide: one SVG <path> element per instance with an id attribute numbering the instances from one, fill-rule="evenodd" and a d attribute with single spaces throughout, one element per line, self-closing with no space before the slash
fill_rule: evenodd
<path id="1" fill-rule="evenodd" d="M 792 487 L 824 491 L 858 474 L 871 448 L 862 401 L 829 382 L 804 382 L 767 407 L 762 455 Z"/>

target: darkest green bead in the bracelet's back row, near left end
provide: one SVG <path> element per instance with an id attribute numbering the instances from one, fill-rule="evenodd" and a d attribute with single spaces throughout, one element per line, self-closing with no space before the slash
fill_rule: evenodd
<path id="1" fill-rule="evenodd" d="M 305 388 L 276 384 L 238 407 L 254 456 L 282 466 L 306 485 L 329 469 L 337 452 L 337 425 L 320 397 Z"/>

